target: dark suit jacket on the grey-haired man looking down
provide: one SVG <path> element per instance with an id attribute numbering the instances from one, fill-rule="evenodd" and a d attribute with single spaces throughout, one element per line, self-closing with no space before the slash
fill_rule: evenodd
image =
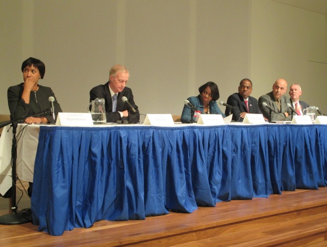
<path id="1" fill-rule="evenodd" d="M 125 96 L 128 99 L 128 102 L 133 106 L 136 110 L 136 113 L 133 113 L 129 109 L 129 105 L 122 101 L 122 97 Z M 106 118 L 107 123 L 116 123 L 119 120 L 125 121 L 127 120 L 129 123 L 139 123 L 140 122 L 140 113 L 137 105 L 135 105 L 134 97 L 132 90 L 129 87 L 125 87 L 122 92 L 118 92 L 117 95 L 117 112 L 112 112 L 112 98 L 109 90 L 109 82 L 104 85 L 98 85 L 91 89 L 90 91 L 90 102 L 96 98 L 103 98 L 106 101 Z M 125 110 L 129 111 L 128 118 L 120 118 L 120 114 L 118 112 L 123 112 Z"/>

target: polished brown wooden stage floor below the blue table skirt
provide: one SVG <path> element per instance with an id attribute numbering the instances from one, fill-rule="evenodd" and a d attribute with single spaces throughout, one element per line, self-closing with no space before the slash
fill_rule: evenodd
<path id="1" fill-rule="evenodd" d="M 28 187 L 28 184 L 25 184 Z M 17 192 L 17 194 L 19 194 Z M 8 213 L 0 198 L 0 215 Z M 24 195 L 19 209 L 30 207 Z M 0 225 L 4 246 L 327 246 L 327 188 L 297 190 L 247 201 L 199 207 L 190 214 L 170 212 L 146 220 L 75 228 L 62 236 L 38 232 L 32 223 Z"/>

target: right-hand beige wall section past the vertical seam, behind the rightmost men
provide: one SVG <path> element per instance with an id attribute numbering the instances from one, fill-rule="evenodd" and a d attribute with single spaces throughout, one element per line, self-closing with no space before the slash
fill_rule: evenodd
<path id="1" fill-rule="evenodd" d="M 288 86 L 301 85 L 301 100 L 327 113 L 326 14 L 270 0 L 251 3 L 253 95 L 269 92 L 284 78 Z"/>

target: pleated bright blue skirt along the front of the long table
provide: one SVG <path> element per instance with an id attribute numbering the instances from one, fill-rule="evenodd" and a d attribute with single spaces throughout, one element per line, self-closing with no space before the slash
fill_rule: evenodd
<path id="1" fill-rule="evenodd" d="M 62 235 L 99 220 L 318 189 L 326 179 L 327 125 L 40 126 L 32 217 Z"/>

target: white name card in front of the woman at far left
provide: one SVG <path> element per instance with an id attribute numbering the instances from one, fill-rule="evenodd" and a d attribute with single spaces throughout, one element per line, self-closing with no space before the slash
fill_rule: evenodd
<path id="1" fill-rule="evenodd" d="M 92 126 L 93 121 L 90 113 L 67 113 L 59 112 L 55 125 L 61 126 Z"/>

